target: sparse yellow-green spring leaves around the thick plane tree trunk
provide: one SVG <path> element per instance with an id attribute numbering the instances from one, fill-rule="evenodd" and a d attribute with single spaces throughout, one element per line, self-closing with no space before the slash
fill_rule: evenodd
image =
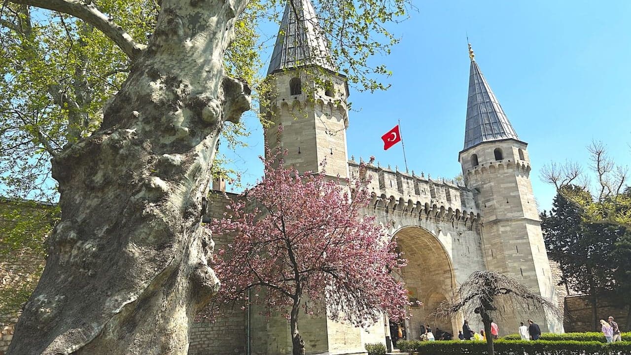
<path id="1" fill-rule="evenodd" d="M 0 6 L 0 195 L 38 200 L 44 202 L 38 208 L 54 210 L 50 203 L 58 195 L 56 182 L 50 178 L 50 159 L 100 126 L 103 107 L 126 80 L 135 57 L 89 21 L 29 3 L 4 1 Z M 161 11 L 160 0 L 85 3 L 120 26 L 139 48 L 154 32 Z M 284 6 L 285 0 L 249 1 L 235 25 L 235 40 L 225 52 L 225 71 L 247 81 L 254 88 L 254 99 L 262 100 L 269 90 L 260 74 L 259 53 L 271 36 L 261 33 L 259 24 L 278 21 Z M 369 65 L 368 59 L 389 53 L 398 42 L 386 25 L 403 19 L 411 2 L 334 0 L 316 6 L 333 60 L 351 85 L 371 91 L 387 88 L 379 76 L 389 71 L 382 64 Z M 243 145 L 242 138 L 248 134 L 249 128 L 242 123 L 226 124 L 222 131 L 225 148 Z M 230 174 L 222 168 L 226 162 L 218 155 L 214 173 Z M 42 225 L 42 219 L 15 208 L 0 210 L 0 218 L 13 221 L 3 226 L 0 253 L 34 253 L 44 258 L 41 238 L 51 224 Z M 30 279 L 36 280 L 40 271 L 33 269 Z M 26 294 L 32 284 L 19 287 Z M 17 296 L 10 301 L 14 305 L 24 299 L 9 294 L 6 300 L 13 296 Z"/>

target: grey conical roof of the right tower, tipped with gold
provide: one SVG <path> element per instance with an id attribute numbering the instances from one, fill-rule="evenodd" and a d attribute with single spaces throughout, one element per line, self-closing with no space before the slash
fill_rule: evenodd
<path id="1" fill-rule="evenodd" d="M 471 57 L 471 69 L 469 70 L 469 100 L 463 150 L 485 141 L 508 138 L 519 140 L 502 105 L 482 75 L 470 45 L 469 57 Z"/>

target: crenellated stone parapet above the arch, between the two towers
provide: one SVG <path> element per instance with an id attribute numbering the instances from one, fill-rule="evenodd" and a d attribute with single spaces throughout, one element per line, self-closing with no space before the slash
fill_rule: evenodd
<path id="1" fill-rule="evenodd" d="M 360 178 L 359 164 L 348 162 L 350 178 Z M 473 226 L 482 221 L 475 205 L 474 191 L 465 186 L 436 181 L 384 167 L 368 165 L 362 179 L 372 192 L 370 208 L 387 214 L 418 215 L 419 219 Z"/>

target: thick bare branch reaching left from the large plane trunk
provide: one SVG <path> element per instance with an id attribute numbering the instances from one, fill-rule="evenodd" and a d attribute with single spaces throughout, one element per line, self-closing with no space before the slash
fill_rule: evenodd
<path id="1" fill-rule="evenodd" d="M 37 8 L 59 11 L 80 18 L 101 30 L 114 41 L 127 57 L 136 59 L 146 45 L 136 42 L 121 26 L 110 20 L 91 2 L 80 0 L 9 0 L 11 3 L 35 6 Z"/>

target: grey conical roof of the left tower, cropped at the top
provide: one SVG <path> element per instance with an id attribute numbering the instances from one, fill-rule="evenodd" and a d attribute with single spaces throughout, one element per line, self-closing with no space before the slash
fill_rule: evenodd
<path id="1" fill-rule="evenodd" d="M 281 69 L 309 64 L 336 71 L 311 1 L 288 0 L 269 63 L 268 75 Z"/>

